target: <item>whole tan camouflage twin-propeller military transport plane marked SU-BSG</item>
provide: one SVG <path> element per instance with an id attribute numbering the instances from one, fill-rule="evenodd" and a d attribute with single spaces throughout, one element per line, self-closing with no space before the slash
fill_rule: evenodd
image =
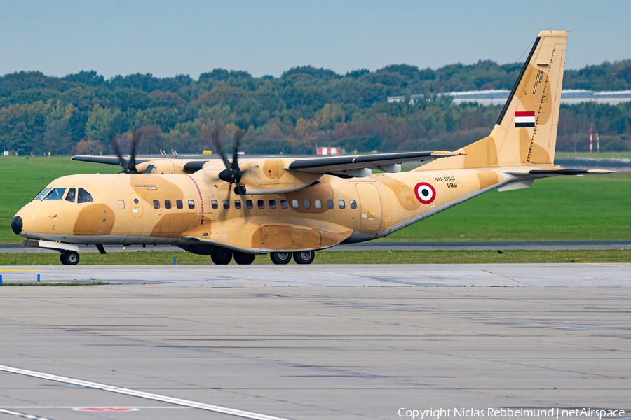
<path id="1" fill-rule="evenodd" d="M 215 264 L 299 264 L 337 244 L 386 237 L 496 188 L 606 173 L 554 165 L 567 32 L 542 31 L 489 137 L 458 151 L 238 161 L 75 156 L 120 174 L 63 176 L 13 218 L 24 246 L 79 262 L 77 244 L 172 244 Z M 237 137 L 241 134 L 238 133 Z M 423 162 L 400 172 L 405 162 Z M 373 174 L 372 169 L 381 173 Z"/>

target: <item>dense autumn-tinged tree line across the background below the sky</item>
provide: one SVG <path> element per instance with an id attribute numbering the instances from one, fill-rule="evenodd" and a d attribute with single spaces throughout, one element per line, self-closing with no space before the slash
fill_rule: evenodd
<path id="1" fill-rule="evenodd" d="M 398 64 L 344 75 L 299 66 L 279 78 L 215 69 L 198 80 L 179 75 L 114 76 L 96 71 L 57 78 L 37 71 L 0 77 L 0 148 L 20 155 L 111 153 L 111 132 L 139 153 L 212 149 L 211 133 L 229 142 L 246 131 L 246 153 L 347 153 L 455 149 L 487 134 L 500 106 L 453 104 L 442 92 L 510 89 L 522 63 L 492 61 L 419 69 Z M 564 88 L 631 89 L 631 59 L 566 70 Z M 423 97 L 409 103 L 410 94 Z M 402 102 L 386 98 L 405 95 Z M 562 105 L 557 150 L 585 151 L 590 124 L 604 151 L 628 151 L 631 103 Z M 138 132 L 140 130 L 140 132 Z"/>

